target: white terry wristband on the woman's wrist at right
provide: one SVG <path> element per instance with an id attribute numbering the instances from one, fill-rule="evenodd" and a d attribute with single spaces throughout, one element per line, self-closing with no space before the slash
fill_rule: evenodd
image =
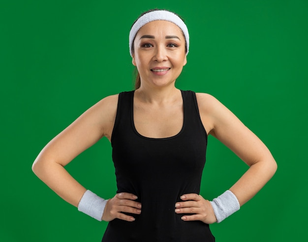
<path id="1" fill-rule="evenodd" d="M 239 200 L 230 190 L 225 191 L 210 203 L 213 207 L 217 223 L 220 223 L 226 217 L 240 209 Z"/>

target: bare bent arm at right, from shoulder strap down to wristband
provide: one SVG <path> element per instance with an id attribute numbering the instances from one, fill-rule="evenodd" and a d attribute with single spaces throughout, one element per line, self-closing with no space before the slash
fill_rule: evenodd
<path id="1" fill-rule="evenodd" d="M 249 166 L 229 189 L 242 206 L 274 175 L 276 161 L 265 144 L 213 96 L 199 93 L 197 101 L 205 129 Z"/>

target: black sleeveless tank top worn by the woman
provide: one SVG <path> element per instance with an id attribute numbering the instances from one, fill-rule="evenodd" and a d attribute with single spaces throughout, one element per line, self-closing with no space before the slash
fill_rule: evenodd
<path id="1" fill-rule="evenodd" d="M 169 138 L 140 135 L 133 120 L 134 91 L 119 94 L 111 138 L 117 193 L 138 196 L 142 208 L 141 214 L 130 214 L 133 222 L 110 221 L 102 242 L 215 242 L 208 224 L 183 221 L 185 214 L 175 212 L 180 196 L 200 192 L 207 147 L 195 93 L 181 93 L 183 127 Z"/>

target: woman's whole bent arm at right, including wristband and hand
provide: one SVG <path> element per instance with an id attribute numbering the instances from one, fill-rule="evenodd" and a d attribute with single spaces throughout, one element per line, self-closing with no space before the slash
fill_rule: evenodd
<path id="1" fill-rule="evenodd" d="M 214 223 L 251 199 L 274 175 L 277 164 L 265 144 L 223 104 L 208 94 L 197 93 L 196 97 L 201 120 L 208 134 L 219 139 L 249 166 L 246 173 L 229 189 L 231 192 L 219 196 L 219 201 L 224 202 L 219 205 L 215 203 L 219 206 L 216 211 L 221 211 L 224 206 L 227 209 L 221 214 L 214 213 L 210 202 L 198 194 L 183 194 L 181 199 L 184 202 L 176 204 L 176 213 L 194 213 L 183 216 L 183 220 Z M 228 196 L 232 201 L 225 201 L 229 199 Z M 228 207 L 230 203 L 232 206 Z M 216 220 L 215 215 L 219 215 L 219 219 L 217 217 Z"/>

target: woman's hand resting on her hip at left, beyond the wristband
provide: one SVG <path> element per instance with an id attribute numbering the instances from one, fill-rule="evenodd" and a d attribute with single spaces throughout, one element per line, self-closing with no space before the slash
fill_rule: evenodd
<path id="1" fill-rule="evenodd" d="M 133 201 L 137 199 L 137 196 L 131 193 L 118 193 L 112 199 L 109 199 L 102 220 L 111 221 L 115 218 L 119 218 L 126 221 L 134 221 L 135 218 L 129 215 L 126 215 L 122 212 L 129 212 L 140 214 L 141 213 L 141 203 Z"/>

